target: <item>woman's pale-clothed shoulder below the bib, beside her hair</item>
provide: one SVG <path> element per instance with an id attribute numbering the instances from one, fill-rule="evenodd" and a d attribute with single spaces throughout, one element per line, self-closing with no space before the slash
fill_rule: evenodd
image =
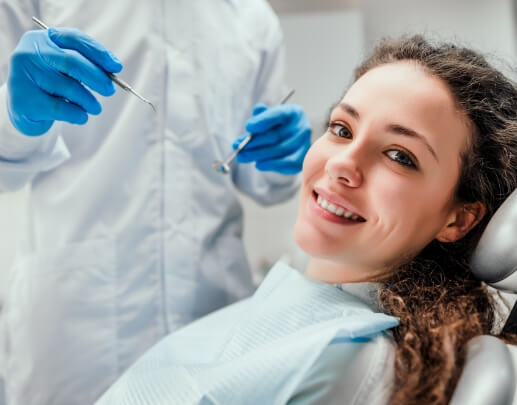
<path id="1" fill-rule="evenodd" d="M 386 404 L 393 382 L 394 352 L 389 333 L 330 344 L 289 404 Z"/>

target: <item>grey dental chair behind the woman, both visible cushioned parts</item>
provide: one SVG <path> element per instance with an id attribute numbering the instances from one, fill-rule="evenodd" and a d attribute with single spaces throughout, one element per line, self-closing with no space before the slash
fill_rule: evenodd
<path id="1" fill-rule="evenodd" d="M 517 293 L 517 190 L 494 214 L 472 256 L 472 271 L 488 285 Z M 503 328 L 517 333 L 517 304 Z M 517 346 L 493 336 L 467 344 L 467 359 L 452 405 L 517 404 Z"/>

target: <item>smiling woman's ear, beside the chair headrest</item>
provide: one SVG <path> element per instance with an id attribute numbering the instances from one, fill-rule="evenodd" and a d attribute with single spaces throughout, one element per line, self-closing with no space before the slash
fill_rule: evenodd
<path id="1" fill-rule="evenodd" d="M 459 204 L 447 218 L 436 239 L 440 242 L 455 242 L 463 238 L 483 219 L 485 213 L 485 204 L 479 201 Z"/>

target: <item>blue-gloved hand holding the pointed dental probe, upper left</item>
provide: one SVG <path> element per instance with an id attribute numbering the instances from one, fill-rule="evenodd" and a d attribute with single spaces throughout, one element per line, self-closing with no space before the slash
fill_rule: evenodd
<path id="1" fill-rule="evenodd" d="M 85 124 L 88 114 L 101 112 L 100 103 L 86 87 L 103 96 L 115 93 L 101 68 L 116 73 L 122 64 L 75 28 L 26 32 L 11 55 L 7 79 L 12 124 L 25 135 L 41 135 L 56 120 Z"/>

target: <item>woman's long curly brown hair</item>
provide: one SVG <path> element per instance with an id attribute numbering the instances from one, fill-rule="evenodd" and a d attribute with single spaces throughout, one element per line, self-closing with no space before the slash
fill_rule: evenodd
<path id="1" fill-rule="evenodd" d="M 422 36 L 382 41 L 356 69 L 355 80 L 398 61 L 414 61 L 440 78 L 469 117 L 473 131 L 455 198 L 486 206 L 483 220 L 463 239 L 434 240 L 383 280 L 378 293 L 383 310 L 400 318 L 393 330 L 391 403 L 446 404 L 463 368 L 466 343 L 494 327 L 494 301 L 473 277 L 469 258 L 490 217 L 517 187 L 517 87 L 480 54 Z"/>

